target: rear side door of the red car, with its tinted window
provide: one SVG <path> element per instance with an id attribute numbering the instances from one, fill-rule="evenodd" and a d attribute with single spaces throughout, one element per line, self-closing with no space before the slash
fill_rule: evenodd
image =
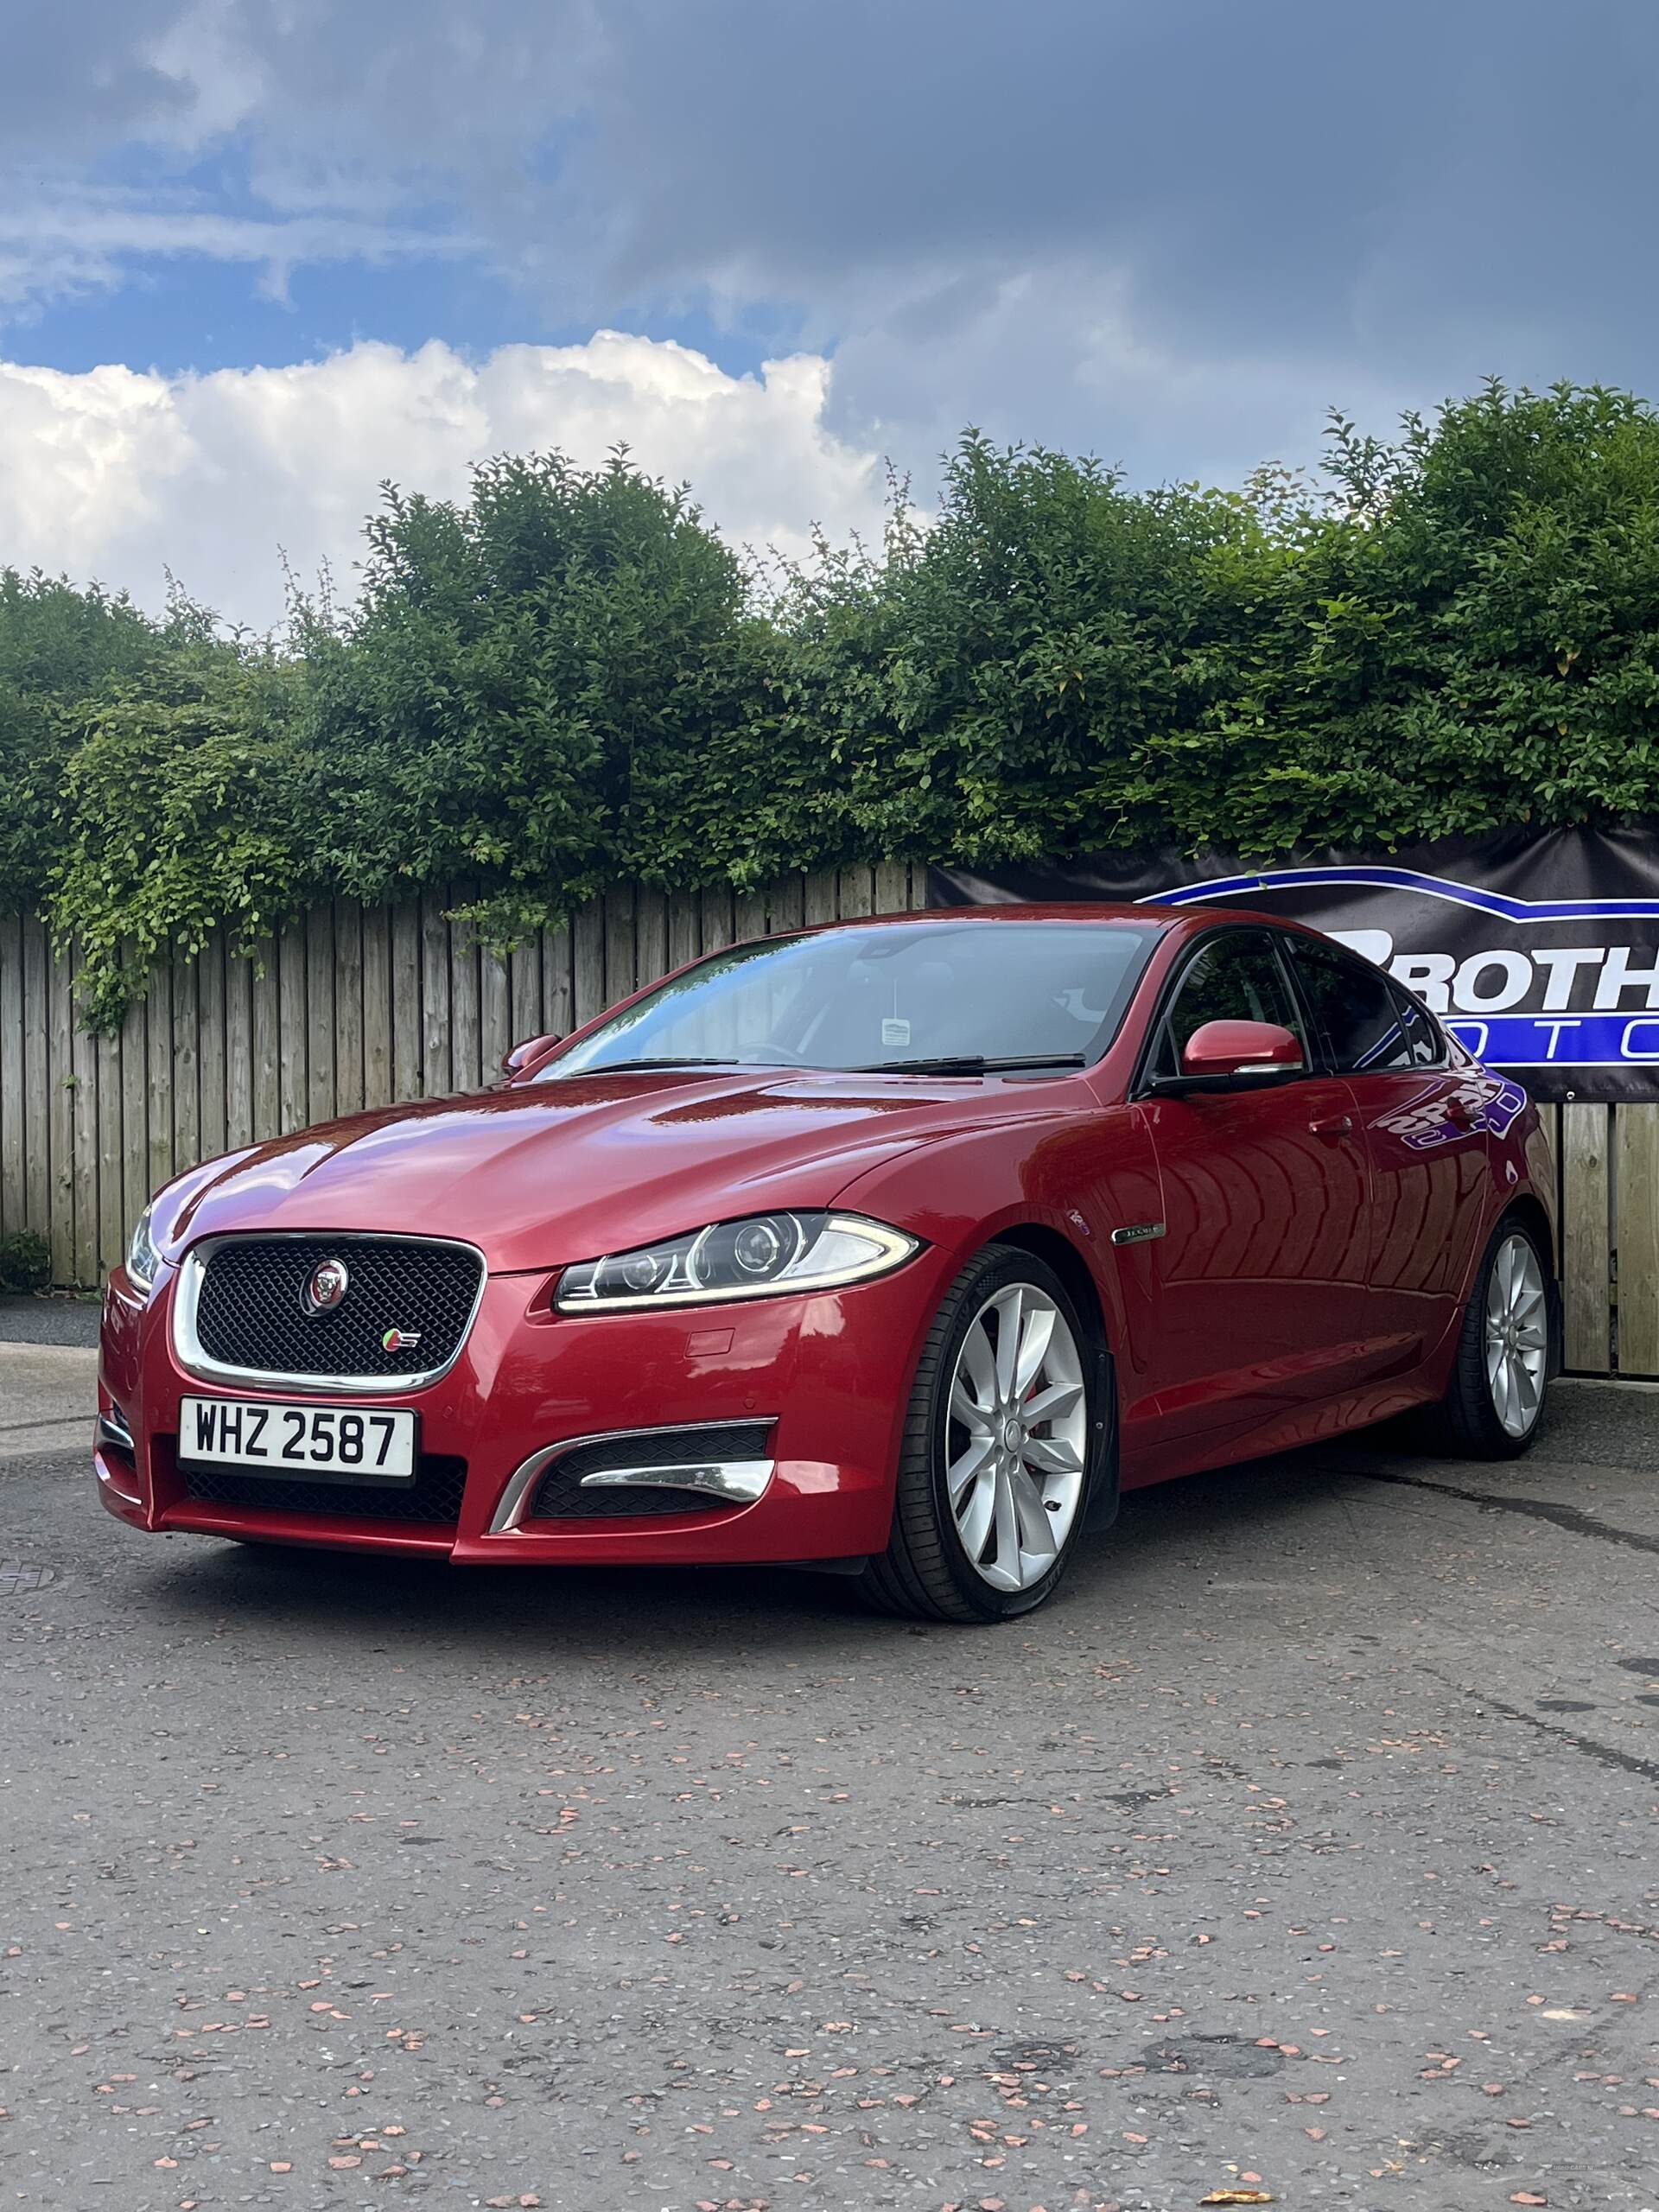
<path id="1" fill-rule="evenodd" d="M 1413 1365 L 1453 1318 L 1486 1208 L 1478 1084 L 1447 1064 L 1425 1006 L 1321 938 L 1287 936 L 1329 1068 L 1345 1077 L 1371 1164 L 1367 1279 L 1380 1336 Z"/>

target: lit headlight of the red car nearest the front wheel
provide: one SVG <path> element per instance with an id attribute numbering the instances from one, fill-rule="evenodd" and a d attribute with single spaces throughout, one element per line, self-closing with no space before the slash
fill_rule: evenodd
<path id="1" fill-rule="evenodd" d="M 916 1237 L 860 1214 L 748 1214 L 566 1267 L 553 1303 L 562 1314 L 584 1314 L 776 1298 L 867 1283 L 902 1267 L 911 1252 L 920 1252 Z"/>

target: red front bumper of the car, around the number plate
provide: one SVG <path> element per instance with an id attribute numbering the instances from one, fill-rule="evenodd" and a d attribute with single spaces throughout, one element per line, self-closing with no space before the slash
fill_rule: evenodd
<path id="1" fill-rule="evenodd" d="M 922 1250 L 896 1274 L 849 1290 L 681 1307 L 664 1314 L 549 1312 L 546 1274 L 489 1276 L 458 1363 L 420 1391 L 354 1398 L 411 1407 L 420 1453 L 465 1462 L 458 1517 L 387 1522 L 338 1509 L 195 1498 L 179 1469 L 179 1398 L 212 1391 L 173 1352 L 166 1274 L 139 1303 L 117 1272 L 104 1305 L 100 1413 L 119 1413 L 133 1451 L 100 1427 L 104 1504 L 150 1531 L 268 1537 L 482 1564 L 686 1566 L 838 1559 L 880 1551 L 911 1378 L 951 1261 Z M 228 1396 L 296 1400 L 292 1387 Z M 323 1402 L 327 1402 L 323 1398 Z M 752 1502 L 686 1511 L 529 1520 L 513 1478 L 540 1453 L 599 1433 L 772 1420 L 774 1467 Z M 504 1504 L 507 1502 L 507 1504 Z M 522 1504 L 522 1500 L 520 1500 Z M 511 1524 L 515 1520 L 515 1524 Z M 507 1524 L 507 1526 L 504 1526 Z"/>

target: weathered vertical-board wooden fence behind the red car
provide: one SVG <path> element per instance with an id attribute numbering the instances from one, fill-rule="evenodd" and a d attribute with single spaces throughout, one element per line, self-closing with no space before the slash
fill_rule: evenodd
<path id="1" fill-rule="evenodd" d="M 117 1037 L 75 1026 L 75 960 L 0 918 L 0 1234 L 38 1230 L 97 1283 L 170 1175 L 361 1106 L 478 1088 L 518 1040 L 568 1031 L 737 938 L 925 905 L 925 872 L 823 869 L 765 891 L 613 891 L 495 960 L 405 907 L 321 907 L 252 960 L 221 940 L 161 969 Z M 1562 1199 L 1566 1360 L 1659 1376 L 1659 1106 L 1546 1108 Z"/>

